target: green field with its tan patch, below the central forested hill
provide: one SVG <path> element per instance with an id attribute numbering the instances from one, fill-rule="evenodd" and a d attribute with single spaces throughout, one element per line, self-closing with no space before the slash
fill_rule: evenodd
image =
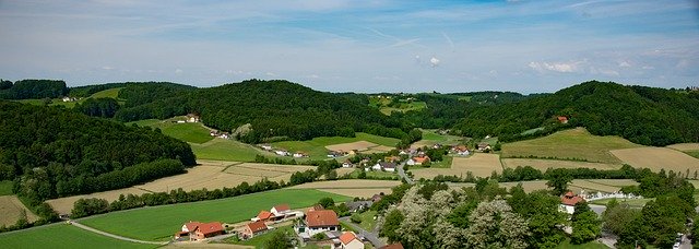
<path id="1" fill-rule="evenodd" d="M 352 144 L 345 147 L 344 144 Z M 345 137 L 321 137 L 315 138 L 308 141 L 282 141 L 272 143 L 273 147 L 281 147 L 287 150 L 289 152 L 305 152 L 310 156 L 310 159 L 327 159 L 328 150 L 343 150 L 345 152 L 351 151 L 353 149 L 365 151 L 377 149 L 377 151 L 390 151 L 393 150 L 395 144 L 399 142 L 398 139 L 393 138 L 384 138 L 374 134 L 367 134 L 363 132 L 355 133 L 355 138 L 345 138 Z M 327 146 L 335 146 L 339 147 L 330 149 Z M 357 147 L 355 147 L 357 146 Z"/>

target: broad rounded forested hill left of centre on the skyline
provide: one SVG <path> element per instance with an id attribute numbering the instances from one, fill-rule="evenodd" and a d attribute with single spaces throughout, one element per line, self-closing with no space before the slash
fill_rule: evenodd
<path id="1" fill-rule="evenodd" d="M 122 108 L 115 117 L 121 121 L 133 121 L 188 112 L 199 114 L 204 124 L 225 131 L 250 123 L 251 130 L 238 138 L 248 143 L 270 138 L 352 137 L 355 131 L 393 138 L 405 135 L 398 129 L 399 122 L 392 122 L 362 102 L 287 81 L 249 80 L 200 88 L 181 96 Z"/>

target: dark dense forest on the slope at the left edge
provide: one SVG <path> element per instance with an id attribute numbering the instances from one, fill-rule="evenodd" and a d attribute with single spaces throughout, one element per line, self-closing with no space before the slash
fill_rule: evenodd
<path id="1" fill-rule="evenodd" d="M 129 187 L 194 159 L 189 144 L 147 128 L 0 100 L 0 180 L 33 201 Z"/>

